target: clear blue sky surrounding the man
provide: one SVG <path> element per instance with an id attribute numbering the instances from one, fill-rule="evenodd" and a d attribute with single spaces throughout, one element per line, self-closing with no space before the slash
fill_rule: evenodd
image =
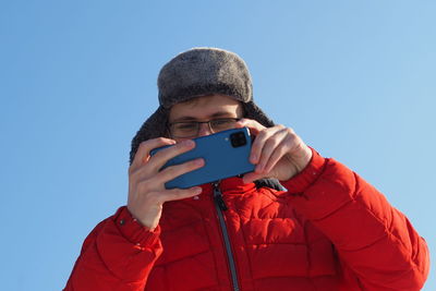
<path id="1" fill-rule="evenodd" d="M 1 289 L 64 287 L 125 204 L 159 69 L 197 46 L 239 53 L 257 104 L 384 192 L 435 253 L 435 15 L 433 0 L 0 1 Z"/>

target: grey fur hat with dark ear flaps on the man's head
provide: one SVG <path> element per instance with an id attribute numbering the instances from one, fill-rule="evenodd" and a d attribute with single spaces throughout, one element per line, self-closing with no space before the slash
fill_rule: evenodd
<path id="1" fill-rule="evenodd" d="M 193 48 L 162 66 L 158 76 L 159 107 L 133 137 L 132 163 L 142 142 L 167 135 L 171 106 L 189 99 L 222 94 L 241 101 L 244 117 L 270 128 L 274 122 L 253 101 L 253 85 L 245 62 L 235 53 L 218 48 Z"/>

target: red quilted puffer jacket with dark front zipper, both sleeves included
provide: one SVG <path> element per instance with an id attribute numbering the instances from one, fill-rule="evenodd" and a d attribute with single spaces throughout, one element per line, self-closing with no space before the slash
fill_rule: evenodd
<path id="1" fill-rule="evenodd" d="M 282 185 L 288 192 L 239 178 L 204 185 L 166 203 L 154 231 L 121 207 L 86 238 L 64 290 L 422 288 L 425 241 L 358 174 L 314 153 Z"/>

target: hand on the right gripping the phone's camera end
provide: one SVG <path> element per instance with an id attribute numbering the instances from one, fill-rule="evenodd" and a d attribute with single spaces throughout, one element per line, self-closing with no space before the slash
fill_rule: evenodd
<path id="1" fill-rule="evenodd" d="M 250 161 L 256 167 L 254 172 L 244 174 L 245 183 L 263 178 L 287 181 L 301 172 L 311 161 L 311 148 L 292 129 L 283 125 L 265 128 L 255 120 L 241 119 L 237 128 L 244 126 L 256 136 L 250 155 Z"/>

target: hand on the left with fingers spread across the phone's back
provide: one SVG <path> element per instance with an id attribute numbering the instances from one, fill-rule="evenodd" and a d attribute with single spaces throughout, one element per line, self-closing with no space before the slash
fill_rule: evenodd
<path id="1" fill-rule="evenodd" d="M 152 149 L 165 145 L 174 145 L 159 150 L 150 157 Z M 181 165 L 159 169 L 171 158 L 195 147 L 191 140 L 177 143 L 173 140 L 158 137 L 140 145 L 135 158 L 129 168 L 128 209 L 144 227 L 153 230 L 159 223 L 162 205 L 168 201 L 193 197 L 202 187 L 167 190 L 165 183 L 204 166 L 203 159 L 194 159 Z"/>

